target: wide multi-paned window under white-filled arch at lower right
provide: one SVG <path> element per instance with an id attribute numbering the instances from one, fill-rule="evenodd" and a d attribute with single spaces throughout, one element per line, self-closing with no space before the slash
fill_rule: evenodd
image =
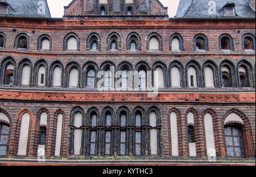
<path id="1" fill-rule="evenodd" d="M 225 127 L 225 139 L 228 157 L 245 157 L 243 135 L 240 127 Z"/>

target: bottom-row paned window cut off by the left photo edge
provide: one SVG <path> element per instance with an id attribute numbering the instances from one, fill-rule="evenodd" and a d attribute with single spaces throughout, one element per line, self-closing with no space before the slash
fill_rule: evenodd
<path id="1" fill-rule="evenodd" d="M 9 127 L 5 124 L 0 124 L 0 156 L 6 155 L 8 137 Z"/>

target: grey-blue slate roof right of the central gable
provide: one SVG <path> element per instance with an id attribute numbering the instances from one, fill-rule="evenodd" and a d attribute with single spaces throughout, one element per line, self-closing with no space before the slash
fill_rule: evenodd
<path id="1" fill-rule="evenodd" d="M 177 18 L 255 18 L 255 11 L 249 6 L 248 0 L 213 0 L 216 3 L 216 14 L 209 14 L 209 0 L 180 0 Z M 234 4 L 236 14 L 225 16 L 224 6 Z"/>

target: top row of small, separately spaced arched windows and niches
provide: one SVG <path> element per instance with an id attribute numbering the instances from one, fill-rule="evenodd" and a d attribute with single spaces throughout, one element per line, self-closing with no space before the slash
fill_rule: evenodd
<path id="1" fill-rule="evenodd" d="M 163 51 L 162 37 L 152 32 L 147 36 L 147 50 Z M 233 39 L 228 34 L 222 34 L 219 37 L 220 50 L 234 50 Z M 76 33 L 68 33 L 64 37 L 63 50 L 80 50 L 80 37 Z M 0 47 L 5 47 L 6 35 L 0 32 Z M 87 50 L 101 51 L 101 37 L 97 33 L 91 33 L 86 41 Z M 121 36 L 113 32 L 108 36 L 106 50 L 121 50 Z M 194 50 L 209 50 L 208 38 L 203 34 L 194 36 L 193 39 Z M 29 49 L 29 37 L 25 33 L 16 36 L 14 48 Z M 127 50 L 141 50 L 141 37 L 136 32 L 132 32 L 126 39 Z M 255 50 L 255 37 L 251 34 L 242 36 L 242 49 Z M 38 39 L 38 50 L 52 50 L 52 39 L 49 35 L 42 35 Z M 183 37 L 179 33 L 174 33 L 170 37 L 170 50 L 181 51 L 184 50 Z"/>

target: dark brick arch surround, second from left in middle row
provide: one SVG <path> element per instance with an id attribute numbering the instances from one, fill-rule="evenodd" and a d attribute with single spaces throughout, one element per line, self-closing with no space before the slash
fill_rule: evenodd
<path id="1" fill-rule="evenodd" d="M 16 77 L 18 81 L 16 81 L 16 84 L 17 86 L 22 87 L 22 69 L 24 65 L 28 65 L 30 67 L 30 84 L 28 86 L 31 87 L 33 85 L 33 78 L 32 78 L 33 64 L 31 60 L 28 58 L 22 59 L 18 64 L 17 77 Z"/>

